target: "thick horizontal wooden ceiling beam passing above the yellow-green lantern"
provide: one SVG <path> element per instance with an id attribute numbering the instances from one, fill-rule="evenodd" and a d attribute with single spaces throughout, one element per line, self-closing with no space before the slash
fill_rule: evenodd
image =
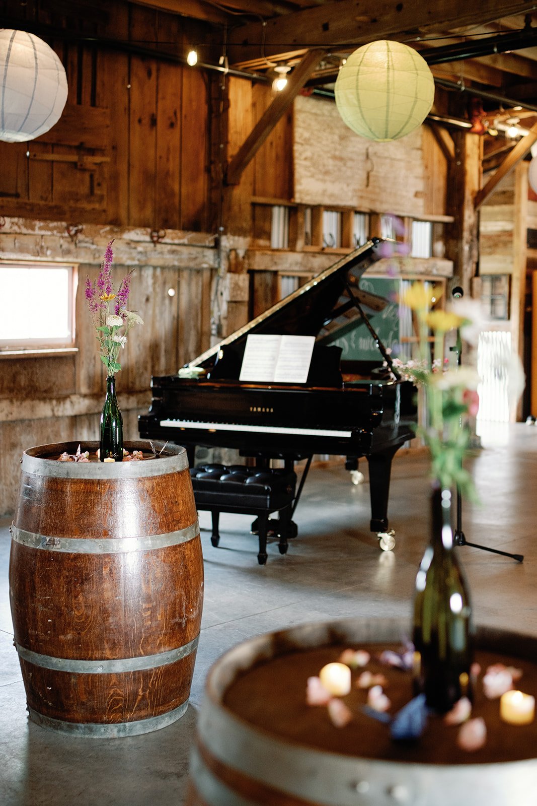
<path id="1" fill-rule="evenodd" d="M 294 14 L 248 23 L 229 31 L 229 62 L 242 64 L 259 55 L 299 52 L 335 44 L 366 44 L 393 35 L 423 35 L 439 27 L 465 27 L 533 10 L 535 0 L 338 0 Z"/>

